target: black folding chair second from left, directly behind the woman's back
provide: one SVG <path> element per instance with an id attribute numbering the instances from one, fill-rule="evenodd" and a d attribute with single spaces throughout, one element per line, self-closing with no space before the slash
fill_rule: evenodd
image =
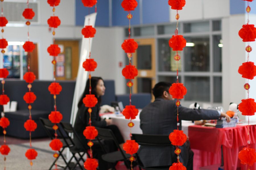
<path id="1" fill-rule="evenodd" d="M 63 128 L 63 130 L 65 131 L 65 133 L 66 133 L 68 139 L 73 143 L 73 146 L 69 147 L 69 150 L 70 150 L 70 152 L 72 153 L 72 157 L 70 158 L 68 164 L 71 162 L 71 160 L 72 160 L 73 158 L 75 158 L 75 160 L 77 161 L 77 163 L 75 164 L 75 167 L 76 167 L 76 165 L 78 164 L 79 167 L 80 167 L 80 169 L 84 169 L 84 168 L 80 165 L 79 161 L 82 160 L 83 162 L 85 162 L 85 160 L 83 159 L 84 154 L 87 154 L 88 158 L 90 157 L 90 155 L 89 155 L 88 152 L 87 152 L 87 150 L 89 149 L 89 147 L 88 147 L 88 148 L 84 147 L 82 141 L 80 141 L 80 139 L 79 139 L 79 135 L 77 134 L 77 132 L 75 131 L 75 129 L 73 128 L 73 126 L 72 126 L 70 123 L 60 122 L 60 125 L 61 125 L 61 127 Z M 77 139 L 78 139 L 78 141 L 79 141 L 79 146 L 75 145 L 73 139 L 69 136 L 69 133 L 73 133 L 73 135 L 75 135 L 75 136 L 77 137 Z M 82 154 L 80 154 L 81 152 L 82 152 Z M 76 158 L 75 154 L 78 154 L 78 155 L 79 155 L 79 159 Z M 74 169 L 75 169 L 75 167 L 74 167 Z M 66 169 L 66 168 L 67 168 L 67 167 L 65 167 L 65 169 Z M 65 169 L 64 169 L 64 170 L 65 170 Z"/>

